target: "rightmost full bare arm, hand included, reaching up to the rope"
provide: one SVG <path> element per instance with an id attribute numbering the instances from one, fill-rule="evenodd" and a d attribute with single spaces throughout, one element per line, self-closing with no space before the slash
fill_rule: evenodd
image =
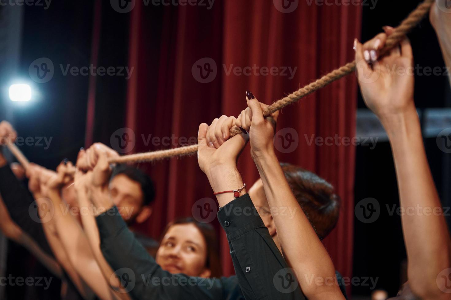
<path id="1" fill-rule="evenodd" d="M 391 31 L 386 28 L 387 34 Z M 390 72 L 393 66 L 405 69 L 413 66 L 410 42 L 405 38 L 390 54 L 373 62 L 373 66 L 364 58 L 365 51 L 377 48 L 375 44 L 383 47 L 387 34 L 380 34 L 364 45 L 355 42 L 359 85 L 365 103 L 377 115 L 390 139 L 400 205 L 406 211 L 401 221 L 410 287 L 421 299 L 449 299 L 449 294 L 442 292 L 444 286 L 439 285 L 437 275 L 451 267 L 450 236 L 424 151 L 414 104 L 414 76 L 409 72 Z M 421 211 L 416 210 L 418 207 Z"/>

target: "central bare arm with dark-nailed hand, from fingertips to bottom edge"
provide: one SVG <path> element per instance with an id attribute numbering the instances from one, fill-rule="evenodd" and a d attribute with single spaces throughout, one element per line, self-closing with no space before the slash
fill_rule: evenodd
<path id="1" fill-rule="evenodd" d="M 307 299 L 344 299 L 332 260 L 296 201 L 275 155 L 273 137 L 277 112 L 265 118 L 262 109 L 267 105 L 259 103 L 252 94 L 248 94 L 248 106 L 250 109 L 242 112 L 237 125 L 249 131 L 251 156 L 268 203 L 271 208 L 288 207 L 295 212 L 292 219 L 282 214 L 273 215 L 285 260 L 297 273 Z M 316 278 L 324 283 L 317 284 Z"/>

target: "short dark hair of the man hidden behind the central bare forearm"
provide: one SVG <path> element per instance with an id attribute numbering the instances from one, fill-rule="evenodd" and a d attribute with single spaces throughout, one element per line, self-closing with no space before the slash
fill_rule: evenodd
<path id="1" fill-rule="evenodd" d="M 325 179 L 299 166 L 281 163 L 285 178 L 302 210 L 320 239 L 326 237 L 338 221 L 341 198 Z"/>

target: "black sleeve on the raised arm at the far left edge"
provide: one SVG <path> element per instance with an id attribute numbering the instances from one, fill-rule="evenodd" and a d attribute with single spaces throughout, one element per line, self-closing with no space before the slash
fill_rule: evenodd
<path id="1" fill-rule="evenodd" d="M 9 165 L 0 168 L 0 194 L 11 219 L 32 237 L 46 254 L 54 257 L 40 222 L 36 202 Z"/>

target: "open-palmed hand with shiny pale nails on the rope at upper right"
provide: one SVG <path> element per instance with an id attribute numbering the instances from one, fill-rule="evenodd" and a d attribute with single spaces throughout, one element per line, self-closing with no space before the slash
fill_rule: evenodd
<path id="1" fill-rule="evenodd" d="M 379 58 L 379 50 L 393 28 L 384 30 L 364 45 L 354 41 L 360 90 L 366 105 L 379 119 L 415 109 L 412 47 L 406 37 L 400 46 Z"/>

